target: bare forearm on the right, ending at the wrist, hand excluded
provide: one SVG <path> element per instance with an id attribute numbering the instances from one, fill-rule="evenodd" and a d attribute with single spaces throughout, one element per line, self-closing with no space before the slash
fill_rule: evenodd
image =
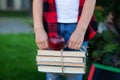
<path id="1" fill-rule="evenodd" d="M 82 30 L 83 33 L 86 32 L 87 27 L 90 23 L 90 20 L 93 16 L 95 3 L 96 3 L 96 0 L 85 0 L 81 18 L 78 22 L 76 30 Z"/>

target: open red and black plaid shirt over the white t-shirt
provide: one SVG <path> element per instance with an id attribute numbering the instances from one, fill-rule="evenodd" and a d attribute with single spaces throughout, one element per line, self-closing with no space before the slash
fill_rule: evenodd
<path id="1" fill-rule="evenodd" d="M 79 1 L 79 15 L 78 15 L 78 21 L 81 16 L 82 8 L 84 5 L 85 0 Z M 56 3 L 55 0 L 43 0 L 43 23 L 46 32 L 48 33 L 49 37 L 52 37 L 54 35 L 57 35 L 57 12 L 56 12 Z M 92 39 L 97 31 L 97 23 L 95 20 L 95 17 L 93 16 L 90 24 L 88 26 L 88 29 L 86 31 L 85 40 Z"/>

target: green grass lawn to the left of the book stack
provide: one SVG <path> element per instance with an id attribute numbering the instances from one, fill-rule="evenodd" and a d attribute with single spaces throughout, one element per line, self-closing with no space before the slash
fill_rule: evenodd
<path id="1" fill-rule="evenodd" d="M 0 80 L 45 80 L 36 50 L 34 34 L 0 34 Z"/>

